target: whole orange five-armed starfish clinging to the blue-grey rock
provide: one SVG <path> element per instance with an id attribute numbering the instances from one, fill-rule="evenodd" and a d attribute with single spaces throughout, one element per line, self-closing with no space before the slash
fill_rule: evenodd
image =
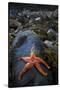
<path id="1" fill-rule="evenodd" d="M 31 49 L 31 55 L 29 57 L 19 57 L 19 60 L 23 60 L 24 62 L 27 62 L 24 66 L 23 70 L 19 73 L 19 80 L 21 80 L 24 76 L 24 74 L 30 70 L 33 66 L 41 73 L 43 76 L 47 76 L 47 72 L 45 72 L 40 64 L 44 64 L 48 69 L 50 68 L 48 64 L 40 57 L 37 57 L 34 54 L 35 47 L 33 46 Z"/>

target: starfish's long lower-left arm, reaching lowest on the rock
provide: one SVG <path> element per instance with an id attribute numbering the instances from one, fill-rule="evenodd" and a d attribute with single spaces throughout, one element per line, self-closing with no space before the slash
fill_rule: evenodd
<path id="1" fill-rule="evenodd" d="M 23 70 L 19 73 L 18 79 L 21 80 L 21 79 L 23 78 L 24 74 L 25 74 L 28 70 L 30 70 L 30 69 L 32 68 L 32 66 L 33 66 L 33 63 L 27 63 L 27 64 L 24 66 Z"/>

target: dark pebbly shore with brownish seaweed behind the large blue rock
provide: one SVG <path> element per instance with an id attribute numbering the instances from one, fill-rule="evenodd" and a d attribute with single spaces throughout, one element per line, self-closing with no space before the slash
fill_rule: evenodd
<path id="1" fill-rule="evenodd" d="M 13 49 L 13 42 L 18 33 L 27 30 L 35 32 L 44 44 L 44 53 L 48 57 L 45 60 L 49 63 L 52 71 L 53 81 L 58 83 L 58 8 L 47 9 L 17 9 L 9 7 L 9 53 Z M 21 44 L 26 37 L 22 38 Z M 19 44 L 20 45 L 20 44 Z M 18 46 L 19 46 L 18 45 Z M 19 46 L 20 47 L 20 46 Z"/>

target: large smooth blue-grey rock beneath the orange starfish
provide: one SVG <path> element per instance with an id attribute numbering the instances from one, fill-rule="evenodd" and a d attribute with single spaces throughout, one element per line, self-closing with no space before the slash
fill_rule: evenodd
<path id="1" fill-rule="evenodd" d="M 38 37 L 38 35 L 31 31 L 20 31 L 16 35 L 16 38 L 12 44 L 13 49 L 11 51 L 11 67 L 9 72 L 11 72 L 10 86 L 34 86 L 34 85 L 49 85 L 52 84 L 52 72 L 48 71 L 48 76 L 42 76 L 34 67 L 25 74 L 22 80 L 18 80 L 19 72 L 23 69 L 25 63 L 18 61 L 20 56 L 28 56 L 30 54 L 32 45 L 35 44 L 36 49 L 39 51 L 39 55 L 44 55 L 44 44 Z"/>

